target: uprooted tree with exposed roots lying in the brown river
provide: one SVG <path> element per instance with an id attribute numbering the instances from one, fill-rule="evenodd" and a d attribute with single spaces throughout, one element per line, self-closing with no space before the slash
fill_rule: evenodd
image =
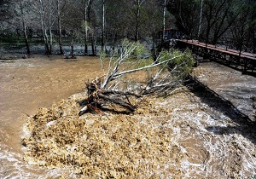
<path id="1" fill-rule="evenodd" d="M 106 75 L 85 82 L 88 96 L 79 115 L 105 110 L 132 113 L 144 95 L 161 95 L 175 90 L 191 72 L 194 63 L 189 51 L 162 51 L 153 60 L 141 43 L 125 40 L 121 47 L 109 58 Z M 103 72 L 105 61 L 102 56 Z M 132 74 L 143 78 L 134 80 Z"/>

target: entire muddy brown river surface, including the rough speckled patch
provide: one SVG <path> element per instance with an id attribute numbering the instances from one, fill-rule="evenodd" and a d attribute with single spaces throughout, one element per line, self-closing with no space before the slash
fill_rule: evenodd
<path id="1" fill-rule="evenodd" d="M 240 113 L 251 110 L 247 101 L 256 94 L 254 78 L 224 67 L 213 72 L 210 63 L 195 72 L 220 95 L 231 94 L 224 96 L 229 101 L 238 89 L 224 93 L 227 81 L 220 89 L 211 76 L 219 73 L 236 82 L 228 86 L 250 88 L 239 95 L 247 99 L 237 107 L 240 111 L 189 84 L 170 96 L 148 98 L 132 115 L 79 117 L 84 79 L 100 76 L 100 63 L 52 58 L 0 63 L 1 178 L 255 177 L 255 130 Z"/>

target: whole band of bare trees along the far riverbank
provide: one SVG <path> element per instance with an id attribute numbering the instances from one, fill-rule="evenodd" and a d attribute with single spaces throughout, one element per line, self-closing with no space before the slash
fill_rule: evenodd
<path id="1" fill-rule="evenodd" d="M 164 27 L 202 42 L 252 49 L 255 9 L 253 0 L 1 0 L 0 33 L 24 34 L 26 46 L 29 38 L 42 38 L 47 54 L 54 43 L 61 54 L 63 43 L 81 43 L 87 55 L 100 43 L 148 42 Z"/>

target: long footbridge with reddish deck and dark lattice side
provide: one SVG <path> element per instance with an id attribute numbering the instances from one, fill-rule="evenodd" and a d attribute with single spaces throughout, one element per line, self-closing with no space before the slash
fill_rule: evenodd
<path id="1" fill-rule="evenodd" d="M 244 73 L 256 70 L 256 54 L 228 49 L 218 45 L 200 43 L 197 40 L 179 39 L 177 40 L 177 47 L 181 49 L 189 48 L 195 55 L 234 67 Z"/>

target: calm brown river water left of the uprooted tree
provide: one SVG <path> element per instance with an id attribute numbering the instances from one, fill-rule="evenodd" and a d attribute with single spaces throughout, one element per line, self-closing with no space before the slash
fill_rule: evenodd
<path id="1" fill-rule="evenodd" d="M 85 79 L 100 75 L 99 64 L 98 58 L 69 61 L 40 55 L 0 62 L 0 178 L 44 176 L 45 171 L 22 159 L 20 137 L 26 116 L 83 91 Z"/>

